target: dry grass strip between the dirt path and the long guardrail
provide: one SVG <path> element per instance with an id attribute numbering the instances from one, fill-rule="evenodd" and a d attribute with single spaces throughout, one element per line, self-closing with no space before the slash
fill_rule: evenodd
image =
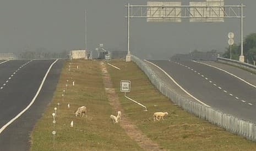
<path id="1" fill-rule="evenodd" d="M 256 143 L 236 136 L 224 129 L 210 124 L 187 113 L 160 94 L 151 85 L 146 75 L 133 62 L 113 60 L 110 63 L 121 68 L 121 71 L 108 66 L 112 82 L 116 88 L 123 114 L 133 119 L 135 124 L 160 148 L 167 150 L 256 150 Z M 131 92 L 127 96 L 144 104 L 143 108 L 127 100 L 119 92 L 120 80 L 131 80 Z M 154 112 L 168 112 L 164 121 L 152 120 Z"/>

